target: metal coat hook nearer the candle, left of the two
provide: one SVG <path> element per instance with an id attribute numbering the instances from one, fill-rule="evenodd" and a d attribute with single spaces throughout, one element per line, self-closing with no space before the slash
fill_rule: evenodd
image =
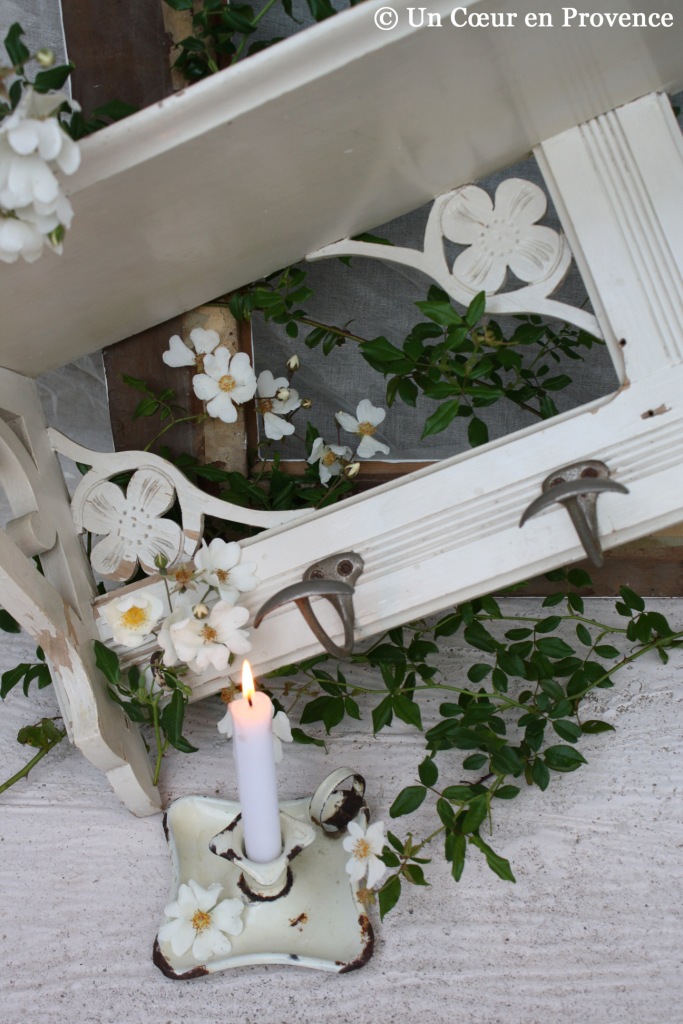
<path id="1" fill-rule="evenodd" d="M 301 583 L 273 594 L 256 613 L 254 627 L 260 626 L 267 614 L 290 601 L 299 608 L 316 640 L 328 654 L 334 657 L 348 657 L 353 651 L 353 588 L 362 572 L 362 558 L 354 551 L 346 551 L 341 555 L 324 558 L 309 565 L 303 574 Z M 337 610 L 344 627 L 344 643 L 339 646 L 332 640 L 321 626 L 315 612 L 310 606 L 311 597 L 325 597 Z"/>

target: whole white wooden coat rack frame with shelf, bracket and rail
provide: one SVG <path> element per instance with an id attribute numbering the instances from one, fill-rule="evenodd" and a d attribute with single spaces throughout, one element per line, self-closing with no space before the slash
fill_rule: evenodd
<path id="1" fill-rule="evenodd" d="M 366 564 L 355 595 L 361 640 L 567 563 L 582 550 L 561 508 L 523 529 L 517 523 L 549 473 L 583 459 L 604 461 L 630 490 L 600 498 L 604 548 L 683 518 L 683 147 L 668 100 L 645 95 L 683 84 L 681 28 L 605 32 L 582 37 L 581 46 L 561 29 L 544 30 L 543 42 L 538 30 L 505 38 L 462 31 L 454 42 L 443 30 L 404 23 L 393 34 L 373 34 L 381 6 L 370 0 L 86 143 L 65 257 L 0 275 L 8 368 L 0 374 L 0 452 L 15 516 L 0 535 L 5 603 L 46 650 L 70 734 L 136 813 L 156 809 L 158 796 L 141 740 L 106 700 L 93 667 L 91 641 L 98 630 L 105 636 L 99 604 L 93 615 L 91 580 L 35 388 L 12 370 L 37 374 L 142 330 L 535 146 L 620 391 L 245 542 L 262 581 L 250 607 L 300 580 L 312 561 L 352 549 Z M 479 0 L 469 8 L 497 6 Z M 630 9 L 618 0 L 611 6 Z M 655 9 L 650 0 L 641 6 Z M 530 0 L 517 7 L 522 16 L 541 9 Z M 451 9 L 434 4 L 444 16 Z M 444 125 L 464 82 L 463 127 L 451 134 Z M 226 218 L 217 217 L 224 175 L 230 161 L 244 168 L 247 144 L 248 195 L 237 194 Z M 395 166 L 397 146 L 408 174 Z M 197 202 L 183 225 L 177 200 L 198 152 L 204 180 L 195 177 Z M 185 247 L 180 262 L 178 237 L 187 245 L 200 240 L 201 251 Z M 50 344 L 47 323 L 54 325 Z M 50 437 L 54 449 L 74 454 Z M 130 458 L 130 468 L 140 465 L 140 456 Z M 82 461 L 97 472 L 96 457 Z M 205 499 L 198 493 L 194 500 L 201 519 Z M 186 535 L 190 547 L 197 532 Z M 46 579 L 30 561 L 41 552 Z M 290 605 L 255 632 L 252 659 L 265 672 L 317 649 Z M 198 679 L 196 696 L 220 685 Z"/>

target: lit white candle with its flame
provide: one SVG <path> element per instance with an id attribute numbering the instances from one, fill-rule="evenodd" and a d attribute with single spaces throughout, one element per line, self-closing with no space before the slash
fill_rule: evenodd
<path id="1" fill-rule="evenodd" d="M 245 853 L 250 860 L 264 864 L 283 852 L 272 750 L 272 702 L 267 693 L 254 689 L 249 662 L 242 667 L 242 700 L 232 700 L 229 709 Z"/>

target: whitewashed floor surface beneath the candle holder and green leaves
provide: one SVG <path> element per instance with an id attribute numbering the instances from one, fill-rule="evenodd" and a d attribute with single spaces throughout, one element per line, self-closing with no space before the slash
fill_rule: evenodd
<path id="1" fill-rule="evenodd" d="M 665 603 L 680 622 L 683 600 Z M 3 641 L 3 667 L 31 653 L 18 638 Z M 444 648 L 452 678 L 465 664 Z M 456 886 L 437 852 L 431 888 L 405 893 L 384 925 L 375 922 L 374 958 L 347 976 L 250 968 L 163 977 L 151 961 L 170 885 L 161 817 L 133 818 L 76 751 L 57 749 L 0 797 L 0 1019 L 33 1024 L 40 1011 L 50 1024 L 681 1021 L 682 669 L 683 651 L 667 668 L 641 659 L 596 698 L 595 717 L 616 732 L 587 738 L 589 765 L 555 777 L 545 795 L 500 802 L 492 842 L 511 859 L 516 886 L 479 860 Z M 10 695 L 0 718 L 3 778 L 25 758 L 17 728 L 54 713 L 49 691 L 31 703 Z M 169 759 L 167 802 L 234 797 L 220 714 L 217 698 L 190 709 L 186 731 L 200 752 Z M 327 756 L 288 748 L 281 797 L 310 793 L 348 764 L 367 777 L 373 815 L 386 819 L 423 755 L 407 726 L 373 740 L 368 717 L 333 738 Z M 432 820 L 425 809 L 410 819 L 416 835 Z"/>

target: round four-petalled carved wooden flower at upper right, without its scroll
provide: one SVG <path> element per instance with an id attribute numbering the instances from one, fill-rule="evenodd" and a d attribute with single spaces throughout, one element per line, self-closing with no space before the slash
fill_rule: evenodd
<path id="1" fill-rule="evenodd" d="M 520 178 L 503 181 L 495 203 L 476 185 L 460 188 L 441 214 L 445 238 L 468 247 L 456 258 L 454 276 L 489 293 L 502 286 L 508 267 L 520 281 L 545 278 L 562 252 L 559 234 L 536 223 L 546 207 L 543 190 Z"/>

